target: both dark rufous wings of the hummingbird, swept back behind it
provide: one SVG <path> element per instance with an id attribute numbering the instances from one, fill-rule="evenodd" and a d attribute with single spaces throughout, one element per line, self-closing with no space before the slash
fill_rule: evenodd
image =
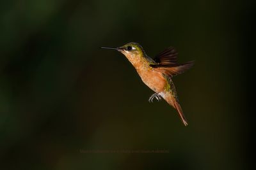
<path id="1" fill-rule="evenodd" d="M 177 74 L 184 73 L 187 69 L 193 66 L 194 62 L 189 61 L 184 64 L 177 64 L 177 51 L 170 46 L 163 52 L 159 53 L 154 61 L 156 64 L 151 64 L 157 71 L 167 74 L 168 76 L 175 76 Z"/>

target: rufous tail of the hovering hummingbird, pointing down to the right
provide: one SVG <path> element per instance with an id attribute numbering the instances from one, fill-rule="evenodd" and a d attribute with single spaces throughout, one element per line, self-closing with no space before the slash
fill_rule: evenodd
<path id="1" fill-rule="evenodd" d="M 185 126 L 187 126 L 188 125 L 188 121 L 187 121 L 186 117 L 184 116 L 182 108 L 181 108 L 179 102 L 177 101 L 177 99 L 175 99 L 175 97 L 173 97 L 172 94 L 170 94 L 170 92 L 165 94 L 164 99 L 166 100 L 166 102 L 168 104 L 173 106 L 173 108 L 175 108 L 178 111 L 183 124 Z"/>

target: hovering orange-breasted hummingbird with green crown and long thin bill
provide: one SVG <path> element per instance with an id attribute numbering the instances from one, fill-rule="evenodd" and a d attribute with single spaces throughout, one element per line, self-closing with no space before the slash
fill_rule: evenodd
<path id="1" fill-rule="evenodd" d="M 184 64 L 177 64 L 177 51 L 170 46 L 152 59 L 138 43 L 127 43 L 120 47 L 101 47 L 103 49 L 117 50 L 125 55 L 136 69 L 141 80 L 155 93 L 148 99 L 153 102 L 154 98 L 160 101 L 162 98 L 175 108 L 186 126 L 188 121 L 184 116 L 172 78 L 177 74 L 184 73 L 191 66 L 193 61 Z"/>

